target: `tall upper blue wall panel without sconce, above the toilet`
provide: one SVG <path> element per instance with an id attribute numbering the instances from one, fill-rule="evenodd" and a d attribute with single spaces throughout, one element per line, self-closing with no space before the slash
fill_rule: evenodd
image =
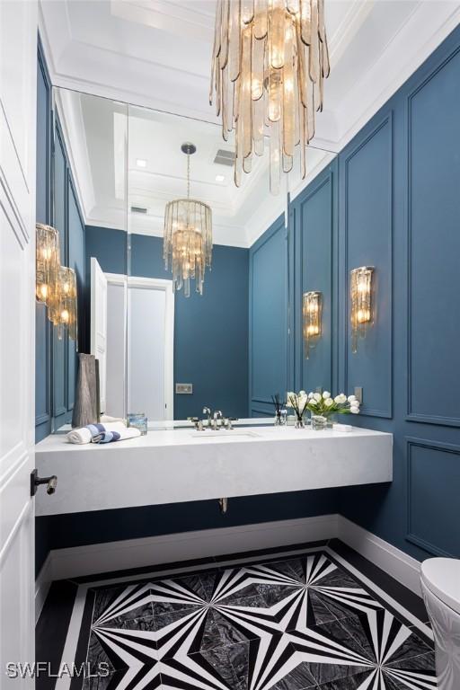
<path id="1" fill-rule="evenodd" d="M 455 297 L 460 265 L 459 78 L 460 49 L 456 49 L 408 98 L 409 419 L 456 426 L 460 424 L 460 310 Z"/>

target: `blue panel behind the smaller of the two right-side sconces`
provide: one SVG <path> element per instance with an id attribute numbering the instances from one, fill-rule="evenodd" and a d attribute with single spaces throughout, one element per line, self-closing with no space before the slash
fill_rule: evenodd
<path id="1" fill-rule="evenodd" d="M 296 388 L 332 390 L 332 244 L 337 165 L 320 173 L 294 200 L 296 208 Z M 323 295 L 322 336 L 305 357 L 302 296 Z"/>

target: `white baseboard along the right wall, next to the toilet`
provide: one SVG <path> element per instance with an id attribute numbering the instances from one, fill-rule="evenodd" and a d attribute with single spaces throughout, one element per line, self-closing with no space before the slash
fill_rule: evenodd
<path id="1" fill-rule="evenodd" d="M 342 542 L 421 597 L 419 561 L 342 515 L 338 526 L 337 536 Z"/>

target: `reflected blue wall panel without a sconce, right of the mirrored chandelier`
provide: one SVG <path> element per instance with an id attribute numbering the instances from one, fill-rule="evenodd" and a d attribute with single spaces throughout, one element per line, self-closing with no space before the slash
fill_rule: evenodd
<path id="1" fill-rule="evenodd" d="M 284 217 L 279 217 L 250 250 L 249 333 L 253 414 L 270 404 L 272 394 L 284 395 L 288 388 L 288 242 Z"/>

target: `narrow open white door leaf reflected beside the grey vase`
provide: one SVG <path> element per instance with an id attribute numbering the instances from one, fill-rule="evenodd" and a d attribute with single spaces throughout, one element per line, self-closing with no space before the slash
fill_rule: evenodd
<path id="1" fill-rule="evenodd" d="M 101 411 L 107 407 L 107 279 L 91 258 L 91 354 L 99 359 Z"/>

